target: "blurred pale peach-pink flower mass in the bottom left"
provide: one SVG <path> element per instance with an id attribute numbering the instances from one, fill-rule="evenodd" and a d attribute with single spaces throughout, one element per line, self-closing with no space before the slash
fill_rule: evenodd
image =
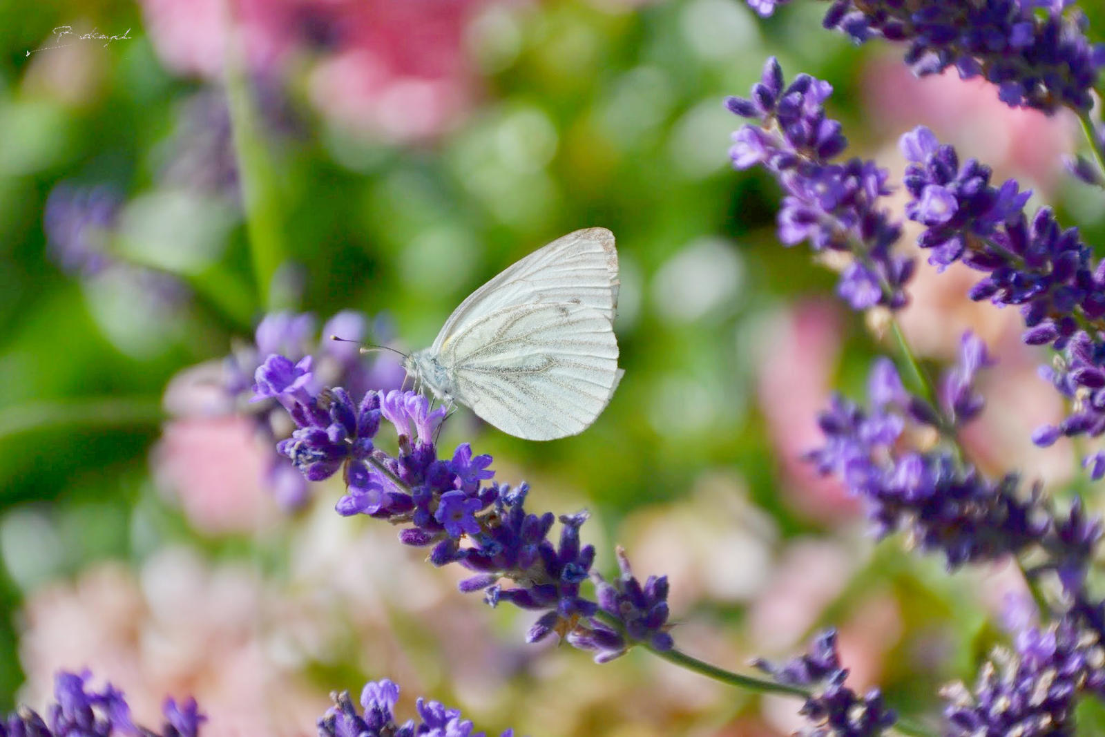
<path id="1" fill-rule="evenodd" d="M 308 734 L 325 694 L 271 646 L 270 598 L 249 569 L 209 569 L 185 550 L 159 554 L 140 579 L 97 566 L 27 600 L 20 699 L 44 703 L 55 671 L 91 667 L 127 694 L 139 724 L 160 725 L 165 695 L 192 695 L 210 716 L 206 737 Z"/>

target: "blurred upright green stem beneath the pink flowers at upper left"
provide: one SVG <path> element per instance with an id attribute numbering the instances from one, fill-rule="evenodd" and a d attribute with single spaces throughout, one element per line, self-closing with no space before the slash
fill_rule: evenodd
<path id="1" fill-rule="evenodd" d="M 281 203 L 276 190 L 276 171 L 269 160 L 257 125 L 244 62 L 239 52 L 241 38 L 238 33 L 238 23 L 229 2 L 224 2 L 223 13 L 228 39 L 224 60 L 227 101 L 230 107 L 253 276 L 262 305 L 272 308 L 276 307 L 270 304 L 273 277 L 285 257 L 281 239 Z"/>

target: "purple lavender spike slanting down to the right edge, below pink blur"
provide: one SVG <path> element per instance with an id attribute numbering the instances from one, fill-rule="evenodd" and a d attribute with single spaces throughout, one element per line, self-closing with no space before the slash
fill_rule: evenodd
<path id="1" fill-rule="evenodd" d="M 1105 433 L 1103 262 L 1092 257 L 1076 228 L 1060 228 L 1050 208 L 1030 220 L 1029 192 L 1015 180 L 991 185 L 989 167 L 975 159 L 960 165 L 955 148 L 940 145 L 927 128 L 903 136 L 902 151 L 911 161 L 906 212 L 926 228 L 917 243 L 932 251 L 929 263 L 962 261 L 983 272 L 968 296 L 1017 305 L 1024 343 L 1062 351 L 1043 375 L 1073 400 L 1073 411 L 1059 425 L 1040 428 L 1033 440 L 1046 446 L 1062 435 Z M 1093 463 L 1092 473 L 1099 478 L 1105 464 Z"/>

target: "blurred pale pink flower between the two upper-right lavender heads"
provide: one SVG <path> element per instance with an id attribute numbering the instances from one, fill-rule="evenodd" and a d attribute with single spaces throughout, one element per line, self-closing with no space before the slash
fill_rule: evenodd
<path id="1" fill-rule="evenodd" d="M 980 78 L 960 80 L 954 71 L 918 78 L 890 55 L 867 66 L 864 98 L 866 119 L 882 127 L 883 135 L 896 139 L 926 125 L 965 159 L 979 159 L 1001 179 L 1017 177 L 1044 190 L 1064 176 L 1060 155 L 1073 149 L 1077 135 L 1077 122 L 1067 110 L 1048 117 L 1013 109 Z M 897 172 L 901 176 L 901 169 Z"/>

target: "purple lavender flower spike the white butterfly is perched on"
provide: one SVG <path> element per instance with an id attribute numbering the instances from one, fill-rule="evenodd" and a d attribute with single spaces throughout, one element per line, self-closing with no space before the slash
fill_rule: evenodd
<path id="1" fill-rule="evenodd" d="M 455 562 L 472 571 L 460 589 L 484 591 L 493 607 L 509 602 L 543 612 L 528 642 L 556 633 L 594 651 L 598 662 L 635 644 L 655 651 L 673 646 L 666 579 L 651 577 L 642 585 L 620 555 L 620 578 L 602 581 L 591 571 L 594 547 L 580 539 L 586 512 L 560 516 L 554 544 L 555 515 L 526 510 L 526 484 L 512 488 L 492 481 L 490 455 L 474 455 L 463 443 L 452 456 L 439 457 L 434 438 L 444 409 L 432 410 L 425 397 L 411 391 L 368 391 L 358 403 L 341 388 L 312 393 L 309 364 L 293 365 L 280 355 L 270 356 L 257 377 L 259 396 L 280 396 L 296 423 L 278 452 L 312 481 L 341 471 L 347 492 L 338 514 L 401 526 L 400 541 L 430 548 L 435 566 Z M 394 455 L 376 444 L 381 420 L 398 435 Z M 582 592 L 592 577 L 598 601 Z"/>

